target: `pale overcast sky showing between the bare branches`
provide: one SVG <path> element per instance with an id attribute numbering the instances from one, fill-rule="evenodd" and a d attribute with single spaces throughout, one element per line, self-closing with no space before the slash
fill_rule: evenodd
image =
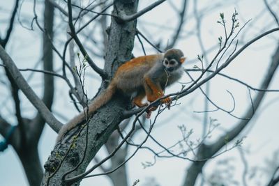
<path id="1" fill-rule="evenodd" d="M 146 5 L 150 4 L 153 1 L 141 1 L 139 10 Z M 239 21 L 241 26 L 248 20 L 252 19 L 250 24 L 246 27 L 243 32 L 246 32 L 246 35 L 243 36 L 243 42 L 247 42 L 257 34 L 262 33 L 263 31 L 272 29 L 276 27 L 276 24 L 273 22 L 273 18 L 268 13 L 262 13 L 264 10 L 264 3 L 262 0 L 242 0 L 229 1 L 228 6 L 216 6 L 216 2 L 219 1 L 199 1 L 198 8 L 203 10 L 203 13 L 206 14 L 202 22 L 202 40 L 206 49 L 216 45 L 218 42 L 218 37 L 223 34 L 223 30 L 217 20 L 219 19 L 219 13 L 225 13 L 225 18 L 229 23 L 230 15 L 234 12 L 234 8 L 237 9 L 239 13 Z M 220 1 L 224 2 L 224 1 Z M 181 4 L 180 1 L 172 0 L 178 8 Z M 3 37 L 3 33 L 6 30 L 5 20 L 8 20 L 10 8 L 13 7 L 13 2 L 5 1 L 1 3 L 0 6 L 0 33 Z M 212 7 L 212 8 L 211 8 Z M 32 1 L 24 1 L 22 5 L 22 16 L 32 15 Z M 38 6 L 37 13 L 40 19 L 43 17 L 43 11 L 39 9 Z M 212 10 L 207 10 L 210 8 Z M 278 10 L 275 6 L 275 9 Z M 4 13 L 3 13 L 4 12 Z M 56 12 L 57 13 L 57 12 Z M 199 12 L 200 13 L 200 12 Z M 193 36 L 188 36 L 187 33 L 190 31 L 196 31 L 195 28 L 195 18 L 193 17 L 193 1 L 190 1 L 188 10 L 186 25 L 183 27 L 183 37 L 179 40 L 176 47 L 183 50 L 184 54 L 188 57 L 189 60 L 197 58 L 197 54 L 201 54 L 201 49 L 197 38 Z M 24 25 L 28 26 L 30 20 L 24 20 L 22 18 Z M 167 40 L 172 37 L 173 28 L 176 26 L 176 15 L 174 10 L 170 8 L 169 3 L 165 2 L 160 5 L 158 8 L 153 9 L 151 12 L 146 13 L 138 20 L 138 28 L 146 34 L 151 40 L 157 41 L 161 39 L 163 44 L 167 44 Z M 157 24 L 163 25 L 168 29 L 158 28 Z M 66 35 L 65 35 L 66 36 Z M 59 36 L 59 41 L 63 41 L 65 36 Z M 40 41 L 41 33 L 35 26 L 35 31 L 28 31 L 23 29 L 22 26 L 16 23 L 15 29 L 13 31 L 12 38 L 7 46 L 8 53 L 13 57 L 14 61 L 17 63 L 19 68 L 31 68 L 35 63 L 40 59 Z M 252 86 L 259 87 L 261 79 L 266 73 L 266 68 L 268 67 L 271 61 L 271 55 L 276 49 L 276 44 L 278 44 L 278 33 L 273 33 L 271 36 L 267 36 L 262 40 L 259 40 L 251 47 L 246 49 L 240 56 L 232 62 L 231 65 L 224 72 L 227 75 L 243 80 Z M 58 37 L 57 37 L 58 38 Z M 240 43 L 240 44 L 243 44 Z M 56 42 L 56 44 L 59 44 Z M 61 43 L 60 43 L 61 44 Z M 92 45 L 89 43 L 89 45 Z M 148 44 L 144 43 L 146 46 L 147 54 L 155 52 L 151 49 Z M 135 39 L 135 49 L 133 51 L 135 56 L 142 55 L 142 49 L 140 43 Z M 208 58 L 215 54 L 209 54 Z M 59 69 L 59 64 L 61 61 L 56 58 L 56 69 Z M 103 64 L 102 59 L 98 60 L 99 65 Z M 199 63 L 190 63 L 186 64 L 186 68 L 193 68 L 193 65 L 199 65 Z M 23 72 L 25 77 L 28 77 L 28 72 Z M 89 72 L 90 77 L 86 79 L 86 85 L 88 87 L 89 95 L 93 96 L 96 93 L 96 88 L 98 87 L 99 80 L 96 77 L 93 77 L 93 72 Z M 0 70 L 0 80 L 5 80 L 3 77 L 3 69 Z M 38 77 L 38 78 L 36 78 Z M 36 88 L 38 95 L 40 95 L 40 77 L 41 75 L 36 74 L 29 83 L 31 86 Z M 185 75 L 181 82 L 188 82 L 189 79 Z M 55 95 L 55 104 L 53 107 L 54 113 L 56 116 L 63 122 L 68 120 L 68 116 L 73 116 L 77 112 L 75 111 L 73 104 L 70 103 L 68 98 L 68 88 L 60 80 L 56 80 L 57 92 Z M 176 84 L 172 88 L 167 90 L 167 93 L 172 93 L 179 91 L 181 88 L 180 84 Z M 273 77 L 273 82 L 270 86 L 273 89 L 279 89 L 278 86 L 278 72 L 276 76 Z M 2 91 L 3 90 L 3 91 Z M 211 81 L 210 87 L 210 98 L 216 102 L 216 104 L 229 109 L 232 107 L 232 99 L 226 90 L 229 90 L 233 93 L 236 100 L 236 110 L 234 114 L 236 116 L 242 116 L 243 111 L 246 111 L 246 108 L 250 106 L 250 99 L 248 97 L 248 90 L 246 87 L 236 84 L 224 79 L 222 77 L 216 77 Z M 7 120 L 14 123 L 13 119 L 13 102 L 7 100 L 9 95 L 8 89 L 4 88 L 0 84 L 0 105 L 6 104 L 6 107 L 0 108 L 0 113 L 2 116 L 6 116 Z M 255 96 L 255 92 L 252 91 L 252 95 Z M 24 95 L 20 95 L 24 98 Z M 266 160 L 273 158 L 273 153 L 278 150 L 278 102 L 279 94 L 278 93 L 268 93 L 266 98 L 259 109 L 257 114 L 257 119 L 252 120 L 250 127 L 243 131 L 241 136 L 246 136 L 246 139 L 243 142 L 243 150 L 246 152 L 246 160 L 249 164 L 249 170 L 252 172 L 252 167 L 254 166 L 267 166 Z M 24 98 L 25 99 L 25 98 Z M 6 101 L 7 100 L 7 101 Z M 161 144 L 165 146 L 172 145 L 181 139 L 181 132 L 178 129 L 178 125 L 186 125 L 188 129 L 193 128 L 193 140 L 198 139 L 202 133 L 202 116 L 203 114 L 196 114 L 193 111 L 203 111 L 204 110 L 204 97 L 197 90 L 194 93 L 186 96 L 179 100 L 180 105 L 173 107 L 170 111 L 165 111 L 163 115 L 158 118 L 156 127 L 153 129 L 152 135 L 156 137 Z M 33 107 L 25 99 L 22 108 L 24 109 L 24 116 L 33 116 Z M 212 105 L 209 107 L 214 109 Z M 65 112 L 66 111 L 66 112 Z M 67 119 L 61 117 L 62 114 Z M 227 130 L 230 127 L 233 127 L 236 123 L 236 119 L 228 116 L 222 111 L 211 112 L 209 113 L 211 118 L 218 119 L 218 123 L 221 124 L 220 128 L 213 132 L 211 141 L 218 138 L 218 135 L 222 134 L 223 130 Z M 144 132 L 140 132 L 135 137 L 135 141 L 139 142 L 144 139 Z M 45 163 L 47 157 L 50 155 L 50 151 L 54 146 L 54 141 L 56 134 L 52 132 L 50 127 L 45 128 L 45 132 L 40 140 L 40 157 L 42 164 Z M 159 150 L 152 141 L 147 141 L 146 146 L 150 146 L 153 149 Z M 130 148 L 130 153 L 133 153 L 133 148 Z M 250 153 L 248 153 L 250 152 Z M 104 150 L 100 150 L 98 154 L 100 156 L 104 155 Z M 224 169 L 225 166 L 216 166 L 221 160 L 232 157 L 232 162 L 230 162 L 234 170 L 234 176 L 232 179 L 238 180 L 241 182 L 241 175 L 243 173 L 243 164 L 241 164 L 241 159 L 239 157 L 239 150 L 233 149 L 229 152 L 216 157 L 214 160 L 211 160 L 206 164 L 204 169 L 204 177 L 208 179 L 212 173 L 217 171 L 217 169 Z M 142 162 L 152 162 L 153 155 L 146 150 L 140 150 L 132 160 L 128 162 L 128 176 L 129 183 L 133 185 L 133 182 L 137 179 L 140 180 L 138 185 L 144 185 L 146 180 L 155 179 L 156 183 L 161 186 L 167 185 L 181 185 L 183 183 L 183 176 L 186 173 L 186 168 L 189 165 L 189 162 L 186 160 L 177 160 L 176 158 L 172 159 L 157 159 L 157 162 L 154 166 L 151 166 L 147 169 L 143 169 Z M 15 155 L 14 150 L 9 147 L 5 152 L 0 153 L 0 178 L 1 185 L 5 186 L 14 186 L 14 185 L 28 185 L 27 179 L 24 176 L 22 166 L 19 163 L 17 155 Z M 264 185 L 266 183 L 266 177 L 248 179 L 248 185 Z M 110 186 L 110 180 L 105 176 L 100 176 L 98 178 L 88 178 L 82 181 L 81 185 L 107 185 Z"/>

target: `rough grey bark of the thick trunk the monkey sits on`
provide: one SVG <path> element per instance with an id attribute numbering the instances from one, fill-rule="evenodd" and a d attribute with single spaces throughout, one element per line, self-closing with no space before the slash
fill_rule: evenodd
<path id="1" fill-rule="evenodd" d="M 130 15 L 135 13 L 136 10 L 137 1 L 118 0 L 114 3 L 113 14 Z M 109 77 L 112 77 L 114 70 L 121 63 L 130 59 L 135 38 L 135 27 L 135 21 L 118 23 L 112 17 L 105 55 L 105 72 L 107 72 Z M 104 86 L 105 84 L 106 82 L 103 82 Z M 66 140 L 64 139 L 63 143 L 55 146 L 52 154 L 45 163 L 45 175 L 42 185 L 63 185 L 63 176 L 65 176 L 65 173 L 73 170 L 76 166 L 77 169 L 67 174 L 66 178 L 83 173 L 100 147 L 105 144 L 117 125 L 123 120 L 121 113 L 127 106 L 127 98 L 123 99 L 122 96 L 116 95 L 109 103 L 96 111 L 96 114 L 89 119 L 88 125 L 84 127 L 79 137 L 76 139 L 73 137 L 70 138 L 71 135 L 73 136 L 74 133 L 76 134 L 79 131 L 79 128 L 70 131 Z M 88 139 L 86 141 L 87 127 Z M 74 145 L 71 146 L 72 144 Z M 62 163 L 61 160 L 63 160 Z M 72 185 L 79 185 L 79 183 Z"/>

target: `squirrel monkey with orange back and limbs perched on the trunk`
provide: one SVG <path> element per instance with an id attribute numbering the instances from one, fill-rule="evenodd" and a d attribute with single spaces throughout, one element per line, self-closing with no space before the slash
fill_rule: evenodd
<path id="1" fill-rule="evenodd" d="M 142 103 L 145 96 L 149 102 L 163 97 L 165 86 L 173 84 L 183 75 L 181 64 L 185 59 L 180 49 L 169 49 L 164 54 L 140 56 L 124 63 L 116 70 L 107 89 L 89 104 L 89 116 L 112 99 L 116 91 L 125 95 L 135 95 L 133 103 L 137 107 L 148 105 Z M 161 102 L 169 104 L 172 100 L 165 98 Z M 69 130 L 82 123 L 84 118 L 84 112 L 81 112 L 63 125 L 56 141 L 60 141 Z"/>

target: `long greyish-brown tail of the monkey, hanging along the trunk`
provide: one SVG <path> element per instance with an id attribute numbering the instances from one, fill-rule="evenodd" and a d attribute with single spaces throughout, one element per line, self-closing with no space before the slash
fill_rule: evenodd
<path id="1" fill-rule="evenodd" d="M 116 92 L 116 85 L 114 84 L 114 82 L 111 82 L 110 85 L 107 87 L 107 89 L 105 89 L 103 93 L 98 95 L 97 98 L 89 104 L 88 112 L 87 112 L 88 115 L 91 116 L 91 114 L 93 114 L 97 109 L 99 109 L 108 101 L 110 101 L 112 99 L 112 95 L 114 95 L 115 92 Z M 84 111 L 82 111 L 80 114 L 75 116 L 75 118 L 71 119 L 68 123 L 63 125 L 63 127 L 61 127 L 61 130 L 59 130 L 59 134 L 56 138 L 56 144 L 58 141 L 62 139 L 62 137 L 67 132 L 72 130 L 78 124 L 82 123 L 82 121 L 84 120 L 85 120 L 85 115 L 84 115 Z"/>

